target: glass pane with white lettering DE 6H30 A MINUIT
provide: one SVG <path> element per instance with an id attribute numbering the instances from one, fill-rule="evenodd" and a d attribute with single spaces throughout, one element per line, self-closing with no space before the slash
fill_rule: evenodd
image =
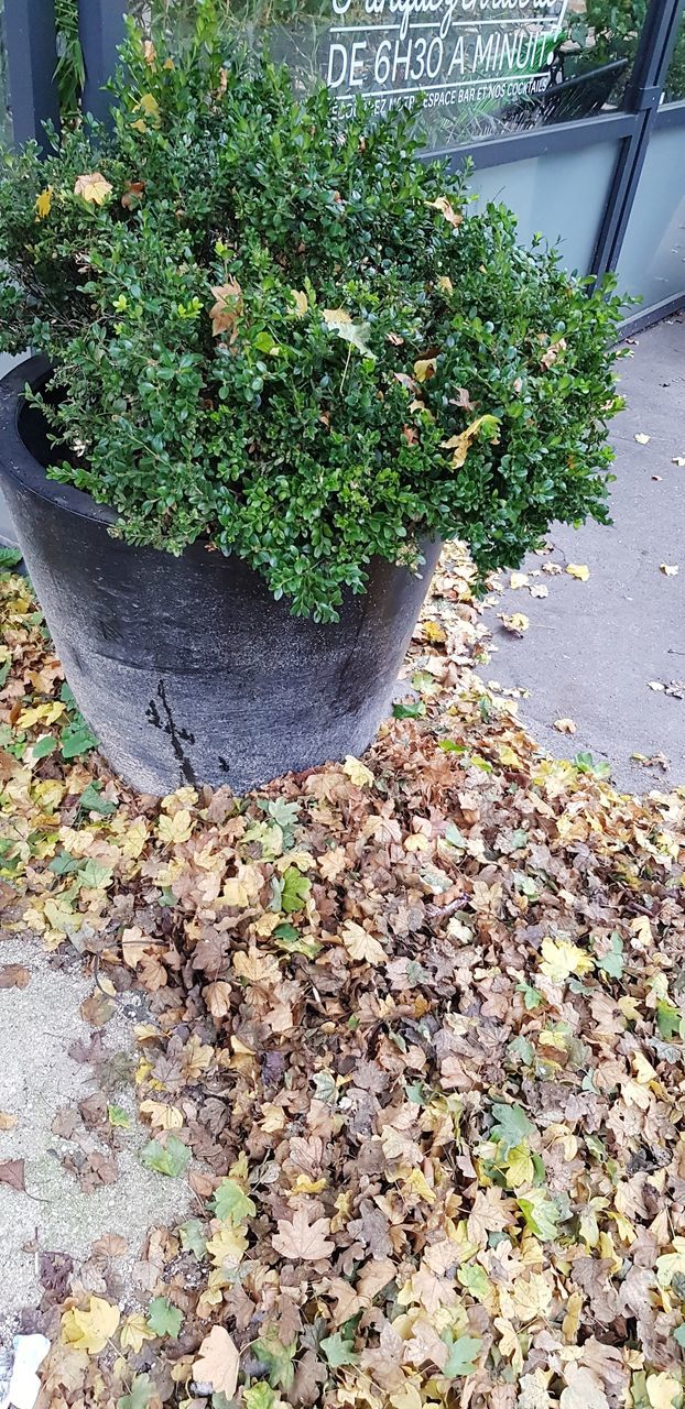
<path id="1" fill-rule="evenodd" d="M 131 0 L 183 28 L 190 0 Z M 427 149 L 620 107 L 647 0 L 230 0 L 228 23 L 268 35 L 340 111 L 420 103 Z"/>

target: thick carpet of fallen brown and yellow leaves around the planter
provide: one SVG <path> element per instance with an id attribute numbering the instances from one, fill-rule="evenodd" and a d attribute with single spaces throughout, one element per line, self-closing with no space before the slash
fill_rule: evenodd
<path id="1" fill-rule="evenodd" d="M 196 1198 L 130 1302 L 55 1272 L 39 1409 L 679 1409 L 685 792 L 541 755 L 471 582 L 364 761 L 158 803 L 35 750 L 61 668 L 0 579 L 6 927 L 144 996 L 140 1155 Z"/>

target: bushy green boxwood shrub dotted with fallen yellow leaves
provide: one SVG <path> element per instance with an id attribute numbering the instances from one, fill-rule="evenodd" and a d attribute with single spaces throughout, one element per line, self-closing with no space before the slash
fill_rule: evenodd
<path id="1" fill-rule="evenodd" d="M 410 114 L 342 124 L 197 14 L 176 52 L 130 25 L 110 132 L 4 159 L 0 347 L 54 365 L 51 476 L 319 620 L 372 554 L 459 537 L 485 572 L 606 520 L 616 296 L 474 210 Z"/>

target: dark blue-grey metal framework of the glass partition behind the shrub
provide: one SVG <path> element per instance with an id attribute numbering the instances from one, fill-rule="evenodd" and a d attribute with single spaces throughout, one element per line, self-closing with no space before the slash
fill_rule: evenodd
<path id="1" fill-rule="evenodd" d="M 101 92 L 123 35 L 125 0 L 79 0 L 80 41 L 86 68 L 85 107 L 96 117 L 109 114 L 109 96 Z M 651 0 L 622 111 L 571 123 L 541 125 L 507 137 L 485 138 L 445 148 L 438 156 L 452 168 L 471 158 L 475 169 L 507 166 L 547 154 L 571 152 L 598 142 L 616 142 L 617 158 L 591 273 L 600 278 L 615 269 L 636 200 L 650 137 L 654 131 L 685 127 L 685 101 L 660 107 L 668 63 L 685 0 Z M 58 123 L 54 82 L 56 63 L 54 0 L 4 0 L 4 27 L 10 68 L 14 138 L 35 138 L 44 144 L 42 123 Z M 685 294 L 682 302 L 685 303 Z M 630 327 L 644 325 L 658 314 L 672 311 L 677 302 L 641 310 Z"/>

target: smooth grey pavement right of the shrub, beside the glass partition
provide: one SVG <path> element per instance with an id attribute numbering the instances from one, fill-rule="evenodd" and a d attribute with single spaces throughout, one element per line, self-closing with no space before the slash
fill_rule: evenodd
<path id="1" fill-rule="evenodd" d="M 483 675 L 530 690 L 520 717 L 555 757 L 588 750 L 609 759 L 617 786 L 646 792 L 685 783 L 685 699 L 648 686 L 685 682 L 685 465 L 672 464 L 685 459 L 685 314 L 641 333 L 631 352 L 619 364 L 627 407 L 612 433 L 613 527 L 555 527 L 554 551 L 524 564 L 586 564 L 591 576 L 531 578 L 547 599 L 506 590 L 488 610 L 498 650 Z M 665 576 L 662 562 L 678 575 Z M 529 630 L 512 635 L 498 612 L 523 612 Z M 575 720 L 574 737 L 554 728 L 560 717 Z M 668 774 L 636 764 L 634 752 L 664 754 Z"/>

